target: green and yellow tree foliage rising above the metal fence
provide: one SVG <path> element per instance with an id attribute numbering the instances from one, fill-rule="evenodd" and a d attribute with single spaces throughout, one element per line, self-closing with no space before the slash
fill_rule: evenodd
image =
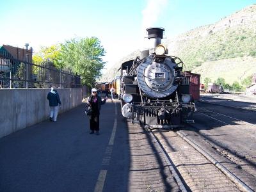
<path id="1" fill-rule="evenodd" d="M 50 62 L 56 68 L 72 70 L 81 76 L 83 84 L 93 86 L 101 76 L 100 70 L 105 64 L 101 57 L 105 53 L 98 38 L 72 38 L 63 44 L 42 47 L 40 52 L 33 56 L 33 62 L 38 65 Z M 36 67 L 33 68 L 34 74 L 36 71 Z"/>

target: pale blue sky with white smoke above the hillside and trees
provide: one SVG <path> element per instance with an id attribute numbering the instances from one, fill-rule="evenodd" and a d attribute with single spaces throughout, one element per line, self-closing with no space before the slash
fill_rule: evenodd
<path id="1" fill-rule="evenodd" d="M 146 28 L 171 38 L 217 22 L 256 0 L 0 0 L 0 45 L 34 52 L 71 38 L 99 38 L 105 69 L 145 47 Z M 146 38 L 147 39 L 147 38 Z"/>

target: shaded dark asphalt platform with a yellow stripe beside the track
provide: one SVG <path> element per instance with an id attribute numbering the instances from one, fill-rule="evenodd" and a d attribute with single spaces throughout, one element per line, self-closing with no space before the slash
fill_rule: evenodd
<path id="1" fill-rule="evenodd" d="M 0 139 L 0 191 L 127 191 L 129 142 L 118 102 L 89 134 L 83 104 Z"/>

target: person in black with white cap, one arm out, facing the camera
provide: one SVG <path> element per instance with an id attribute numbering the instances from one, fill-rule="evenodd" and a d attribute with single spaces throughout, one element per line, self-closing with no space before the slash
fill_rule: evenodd
<path id="1" fill-rule="evenodd" d="M 92 89 L 92 95 L 88 97 L 88 104 L 92 107 L 92 115 L 90 115 L 90 134 L 96 131 L 96 134 L 99 135 L 100 108 L 106 103 L 107 99 L 108 97 L 102 100 L 99 95 L 97 95 L 97 89 Z"/>

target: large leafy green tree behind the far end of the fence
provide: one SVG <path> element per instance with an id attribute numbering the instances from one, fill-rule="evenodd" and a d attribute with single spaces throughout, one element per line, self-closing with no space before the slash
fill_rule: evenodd
<path id="1" fill-rule="evenodd" d="M 61 44 L 61 65 L 81 76 L 83 84 L 92 87 L 101 76 L 100 70 L 105 64 L 101 57 L 105 53 L 98 38 L 73 38 Z"/>

